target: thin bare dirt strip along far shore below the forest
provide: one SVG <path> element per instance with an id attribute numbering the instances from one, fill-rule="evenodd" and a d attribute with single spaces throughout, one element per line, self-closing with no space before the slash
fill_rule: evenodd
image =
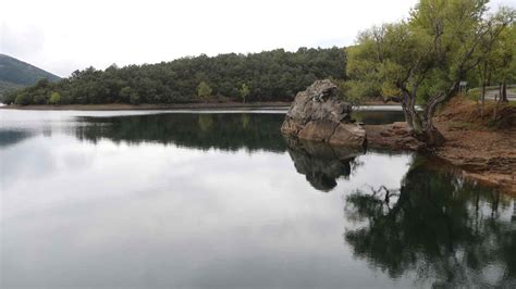
<path id="1" fill-rule="evenodd" d="M 5 105 L 3 110 L 56 110 L 56 111 L 134 111 L 134 110 L 221 110 L 221 109 L 269 109 L 288 108 L 290 102 L 199 102 L 171 104 L 70 104 L 70 105 Z"/>

